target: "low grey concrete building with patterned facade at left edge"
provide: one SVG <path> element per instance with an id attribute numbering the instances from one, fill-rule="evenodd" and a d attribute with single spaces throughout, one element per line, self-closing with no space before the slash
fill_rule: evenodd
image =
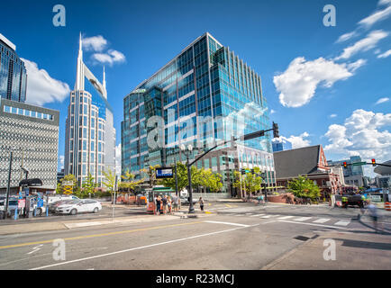
<path id="1" fill-rule="evenodd" d="M 57 184 L 59 153 L 59 111 L 0 98 L 0 191 L 8 184 L 10 151 L 12 193 L 25 178 L 40 178 L 42 189 L 54 190 Z"/>

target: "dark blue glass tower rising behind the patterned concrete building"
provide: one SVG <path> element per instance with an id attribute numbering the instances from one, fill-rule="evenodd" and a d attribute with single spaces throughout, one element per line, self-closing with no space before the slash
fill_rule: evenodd
<path id="1" fill-rule="evenodd" d="M 16 46 L 0 34 L 0 97 L 17 102 L 26 101 L 27 74 Z"/>

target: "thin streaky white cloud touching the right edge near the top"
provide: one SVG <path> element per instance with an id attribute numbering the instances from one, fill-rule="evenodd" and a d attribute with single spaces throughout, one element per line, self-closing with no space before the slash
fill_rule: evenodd
<path id="1" fill-rule="evenodd" d="M 390 7 L 391 8 L 391 7 Z M 376 47 L 377 42 L 388 36 L 388 32 L 382 30 L 371 31 L 368 36 L 343 49 L 341 55 L 335 60 L 347 59 L 357 54 L 359 51 L 368 51 Z"/>

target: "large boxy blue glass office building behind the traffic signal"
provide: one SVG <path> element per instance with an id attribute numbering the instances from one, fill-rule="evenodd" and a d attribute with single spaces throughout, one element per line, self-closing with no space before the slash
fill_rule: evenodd
<path id="1" fill-rule="evenodd" d="M 158 116 L 158 117 L 156 117 Z M 223 140 L 271 127 L 260 76 L 228 47 L 205 33 L 123 99 L 122 173 L 186 161 Z M 220 145 L 196 164 L 223 175 L 223 192 L 236 194 L 233 171 L 259 166 L 275 185 L 269 133 Z"/>

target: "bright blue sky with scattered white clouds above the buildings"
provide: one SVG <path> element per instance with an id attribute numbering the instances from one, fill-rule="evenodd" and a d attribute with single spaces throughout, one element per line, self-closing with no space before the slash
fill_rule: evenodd
<path id="1" fill-rule="evenodd" d="M 55 4 L 66 8 L 65 27 L 52 24 Z M 323 25 L 326 4 L 335 26 Z M 391 0 L 8 1 L 0 19 L 28 61 L 28 101 L 60 112 L 59 155 L 79 31 L 95 43 L 84 50 L 95 76 L 105 62 L 117 145 L 123 97 L 209 31 L 259 73 L 271 120 L 294 147 L 322 144 L 334 160 L 391 158 Z"/>

